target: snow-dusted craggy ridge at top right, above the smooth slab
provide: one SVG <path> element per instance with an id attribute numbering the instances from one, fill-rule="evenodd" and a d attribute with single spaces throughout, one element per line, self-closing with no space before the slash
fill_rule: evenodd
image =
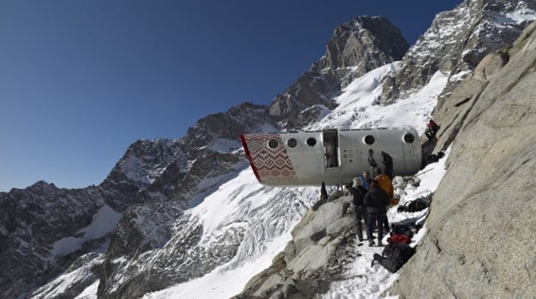
<path id="1" fill-rule="evenodd" d="M 511 45 L 532 20 L 536 20 L 534 0 L 466 0 L 452 11 L 438 13 L 407 51 L 399 70 L 383 82 L 379 102 L 404 98 L 426 85 L 436 71 L 473 71 L 486 54 Z M 451 80 L 444 94 L 458 83 Z"/>

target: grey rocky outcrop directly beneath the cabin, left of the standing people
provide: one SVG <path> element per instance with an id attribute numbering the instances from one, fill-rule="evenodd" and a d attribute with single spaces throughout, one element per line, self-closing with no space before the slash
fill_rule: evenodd
<path id="1" fill-rule="evenodd" d="M 350 203 L 348 195 L 333 194 L 329 202 L 308 210 L 272 266 L 251 278 L 234 298 L 306 299 L 327 292 L 359 254 Z"/>

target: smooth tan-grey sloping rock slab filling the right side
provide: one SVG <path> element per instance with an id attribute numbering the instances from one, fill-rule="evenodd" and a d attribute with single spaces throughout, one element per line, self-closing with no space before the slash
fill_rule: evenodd
<path id="1" fill-rule="evenodd" d="M 536 294 L 536 24 L 486 56 L 438 112 L 452 143 L 429 228 L 391 292 L 401 298 Z"/>

